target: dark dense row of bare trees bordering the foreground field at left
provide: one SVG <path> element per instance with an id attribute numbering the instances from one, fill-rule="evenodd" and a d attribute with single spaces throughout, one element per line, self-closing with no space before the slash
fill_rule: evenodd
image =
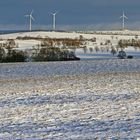
<path id="1" fill-rule="evenodd" d="M 75 53 L 68 49 L 58 47 L 38 47 L 31 50 L 31 55 L 27 51 L 13 48 L 0 47 L 0 62 L 27 62 L 27 61 L 68 61 L 80 60 Z"/>

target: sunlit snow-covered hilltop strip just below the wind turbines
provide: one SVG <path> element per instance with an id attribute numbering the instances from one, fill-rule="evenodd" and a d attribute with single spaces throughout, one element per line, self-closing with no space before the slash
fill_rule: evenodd
<path id="1" fill-rule="evenodd" d="M 131 38 L 135 35 L 140 35 L 140 31 L 91 31 L 91 32 L 47 32 L 47 31 L 37 31 L 37 32 L 22 32 L 22 33 L 12 33 L 0 35 L 1 39 L 16 39 L 17 37 L 50 37 L 50 38 L 76 38 L 82 35 L 84 38 L 97 38 L 110 39 L 112 35 L 118 38 Z"/>

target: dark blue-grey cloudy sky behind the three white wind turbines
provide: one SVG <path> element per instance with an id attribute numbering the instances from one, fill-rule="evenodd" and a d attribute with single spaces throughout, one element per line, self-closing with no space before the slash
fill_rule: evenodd
<path id="1" fill-rule="evenodd" d="M 34 10 L 34 29 L 51 29 L 51 12 L 59 29 L 117 29 L 125 11 L 127 28 L 140 29 L 140 0 L 0 0 L 0 30 L 26 29 L 24 15 Z"/>

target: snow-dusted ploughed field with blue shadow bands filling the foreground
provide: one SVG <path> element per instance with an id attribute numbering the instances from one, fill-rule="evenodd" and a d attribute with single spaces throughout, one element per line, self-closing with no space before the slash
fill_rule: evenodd
<path id="1" fill-rule="evenodd" d="M 140 60 L 0 64 L 0 139 L 140 138 Z"/>

